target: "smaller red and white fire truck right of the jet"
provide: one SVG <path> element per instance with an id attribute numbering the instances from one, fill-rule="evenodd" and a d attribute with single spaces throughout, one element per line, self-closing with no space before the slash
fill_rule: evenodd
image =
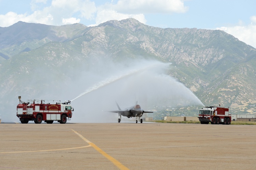
<path id="1" fill-rule="evenodd" d="M 204 107 L 199 109 L 198 118 L 201 124 L 230 124 L 231 114 L 229 114 L 228 108 L 224 107 Z"/>

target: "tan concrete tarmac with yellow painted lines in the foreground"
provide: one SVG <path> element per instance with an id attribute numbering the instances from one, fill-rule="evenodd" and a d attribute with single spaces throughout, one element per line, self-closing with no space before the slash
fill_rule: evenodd
<path id="1" fill-rule="evenodd" d="M 255 169 L 256 126 L 0 124 L 0 169 Z"/>

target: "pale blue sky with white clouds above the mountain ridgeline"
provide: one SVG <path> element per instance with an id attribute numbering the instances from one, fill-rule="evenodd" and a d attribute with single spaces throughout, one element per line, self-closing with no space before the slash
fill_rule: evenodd
<path id="1" fill-rule="evenodd" d="M 255 0 L 0 0 L 0 27 L 19 20 L 97 26 L 126 18 L 160 28 L 220 29 L 256 48 Z"/>

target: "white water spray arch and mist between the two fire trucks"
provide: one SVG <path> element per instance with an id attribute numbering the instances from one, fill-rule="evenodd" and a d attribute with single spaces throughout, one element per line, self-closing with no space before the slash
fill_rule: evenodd
<path id="1" fill-rule="evenodd" d="M 132 60 L 113 66 L 94 65 L 105 68 L 104 75 L 100 78 L 101 73 L 93 74 L 95 80 L 101 80 L 98 83 L 93 83 L 94 80 L 84 82 L 84 88 L 78 88 L 85 94 L 80 92 L 78 98 L 71 102 L 75 108 L 72 122 L 116 122 L 118 114 L 104 112 L 116 110 L 115 101 L 122 109 L 136 101 L 144 110 L 155 109 L 156 106 L 203 106 L 193 92 L 166 75 L 169 65 L 146 60 Z M 87 79 L 84 77 L 84 81 Z"/>

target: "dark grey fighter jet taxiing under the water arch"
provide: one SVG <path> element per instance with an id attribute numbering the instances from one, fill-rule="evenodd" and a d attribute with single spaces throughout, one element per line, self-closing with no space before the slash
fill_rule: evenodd
<path id="1" fill-rule="evenodd" d="M 125 108 L 124 110 L 120 109 L 117 102 L 116 102 L 116 105 L 118 107 L 118 111 L 108 111 L 108 112 L 118 113 L 118 116 L 120 116 L 120 118 L 118 119 L 118 123 L 120 123 L 120 121 L 121 121 L 121 116 L 126 116 L 128 118 L 136 117 L 136 123 L 138 123 L 138 117 L 139 117 L 139 121 L 142 123 L 142 119 L 140 117 L 143 115 L 143 113 L 153 113 L 150 111 L 143 111 L 143 109 L 141 109 L 140 105 L 138 105 L 138 101 L 136 102 L 136 104 L 134 106 Z"/>

